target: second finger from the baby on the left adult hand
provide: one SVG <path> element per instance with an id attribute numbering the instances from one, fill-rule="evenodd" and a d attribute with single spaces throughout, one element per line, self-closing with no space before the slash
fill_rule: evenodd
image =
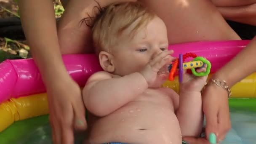
<path id="1" fill-rule="evenodd" d="M 74 144 L 74 112 L 72 104 L 65 106 L 62 115 L 62 117 L 59 117 L 61 118 L 61 144 Z"/>

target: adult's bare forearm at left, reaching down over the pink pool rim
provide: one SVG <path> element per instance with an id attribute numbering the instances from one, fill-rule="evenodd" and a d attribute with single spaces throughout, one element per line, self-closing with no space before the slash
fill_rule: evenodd
<path id="1" fill-rule="evenodd" d="M 46 86 L 65 75 L 52 0 L 19 0 L 21 23 Z M 58 67 L 56 67 L 58 66 Z"/>

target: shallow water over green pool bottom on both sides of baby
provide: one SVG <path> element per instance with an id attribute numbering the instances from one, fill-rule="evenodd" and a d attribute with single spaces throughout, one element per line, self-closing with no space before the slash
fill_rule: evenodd
<path id="1" fill-rule="evenodd" d="M 256 99 L 229 99 L 232 129 L 221 144 L 256 144 Z M 84 133 L 75 134 L 81 144 Z M 51 144 L 48 115 L 15 122 L 0 133 L 0 144 Z"/>

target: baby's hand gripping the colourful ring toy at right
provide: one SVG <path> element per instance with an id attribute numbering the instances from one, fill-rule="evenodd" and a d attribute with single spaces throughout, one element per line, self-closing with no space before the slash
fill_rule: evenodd
<path id="1" fill-rule="evenodd" d="M 196 72 L 206 72 L 207 64 L 202 68 L 196 69 Z M 193 74 L 189 75 L 186 71 L 183 73 L 183 80 L 180 86 L 181 91 L 200 92 L 205 85 L 208 75 L 197 77 Z"/>

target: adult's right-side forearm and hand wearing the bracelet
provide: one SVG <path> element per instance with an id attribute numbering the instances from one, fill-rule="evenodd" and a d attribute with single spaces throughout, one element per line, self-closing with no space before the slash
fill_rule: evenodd
<path id="1" fill-rule="evenodd" d="M 229 87 L 256 72 L 256 37 L 212 78 L 225 80 Z M 215 133 L 217 141 L 224 140 L 231 128 L 227 91 L 214 83 L 203 91 L 203 112 L 206 117 L 206 137 Z"/>

